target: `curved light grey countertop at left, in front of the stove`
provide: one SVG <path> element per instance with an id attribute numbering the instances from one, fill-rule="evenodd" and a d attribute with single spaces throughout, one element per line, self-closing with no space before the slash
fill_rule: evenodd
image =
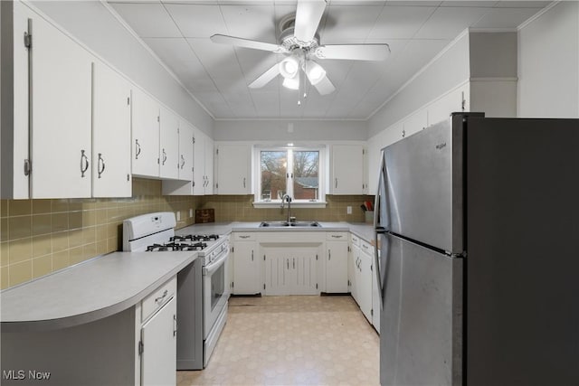
<path id="1" fill-rule="evenodd" d="M 3 332 L 89 323 L 135 306 L 195 252 L 114 252 L 0 293 Z"/>

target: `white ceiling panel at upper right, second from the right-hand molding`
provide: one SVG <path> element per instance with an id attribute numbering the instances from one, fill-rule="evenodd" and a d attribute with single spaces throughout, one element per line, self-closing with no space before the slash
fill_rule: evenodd
<path id="1" fill-rule="evenodd" d="M 440 7 L 416 33 L 415 38 L 454 39 L 470 25 L 477 23 L 490 8 Z"/>

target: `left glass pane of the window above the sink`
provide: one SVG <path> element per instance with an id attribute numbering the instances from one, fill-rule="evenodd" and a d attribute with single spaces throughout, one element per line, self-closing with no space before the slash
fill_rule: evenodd
<path id="1" fill-rule="evenodd" d="M 261 152 L 261 200 L 277 200 L 286 193 L 287 173 L 286 151 Z"/>

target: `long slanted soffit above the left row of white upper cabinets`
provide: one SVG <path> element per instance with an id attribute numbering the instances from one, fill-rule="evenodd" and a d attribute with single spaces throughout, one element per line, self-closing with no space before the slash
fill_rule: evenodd
<path id="1" fill-rule="evenodd" d="M 95 1 L 31 3 L 139 87 L 213 137 L 213 118 L 105 5 Z"/>

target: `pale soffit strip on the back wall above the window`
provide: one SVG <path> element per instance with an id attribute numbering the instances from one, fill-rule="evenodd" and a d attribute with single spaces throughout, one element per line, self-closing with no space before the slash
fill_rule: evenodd
<path id="1" fill-rule="evenodd" d="M 359 120 L 216 120 L 214 123 L 216 141 L 365 141 L 367 137 L 367 122 Z"/>

